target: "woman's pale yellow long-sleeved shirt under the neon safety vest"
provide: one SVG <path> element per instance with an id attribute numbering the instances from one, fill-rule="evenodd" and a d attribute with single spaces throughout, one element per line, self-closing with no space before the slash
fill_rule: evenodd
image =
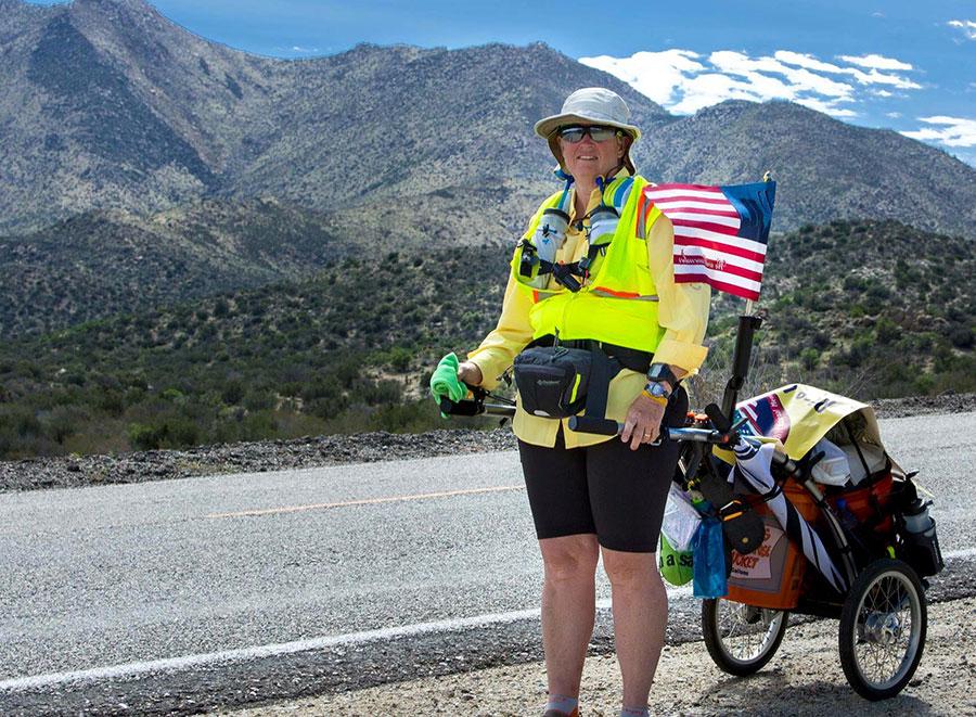
<path id="1" fill-rule="evenodd" d="M 626 176 L 621 169 L 616 177 Z M 566 241 L 556 253 L 556 261 L 570 264 L 587 254 L 586 231 L 576 228 L 576 190 L 569 197 L 570 227 Z M 600 192 L 590 195 L 587 213 L 600 204 Z M 647 217 L 647 260 L 657 291 L 657 321 L 665 330 L 654 353 L 654 361 L 677 366 L 694 373 L 705 360 L 707 350 L 702 342 L 708 324 L 711 290 L 706 284 L 676 284 L 672 264 L 673 230 L 670 220 L 658 212 Z M 614 300 L 614 299 L 607 299 Z M 515 356 L 532 340 L 529 310 L 531 296 L 523 291 L 513 277 L 509 277 L 501 317 L 495 331 L 489 333 L 481 345 L 468 354 L 468 360 L 481 370 L 481 386 L 488 389 L 498 385 Z M 637 371 L 624 369 L 611 382 L 606 405 L 606 418 L 624 421 L 627 410 L 646 383 L 646 376 Z M 565 421 L 565 419 L 564 419 Z M 555 445 L 560 422 L 531 415 L 519 409 L 515 413 L 513 428 L 522 440 L 536 446 Z M 608 440 L 609 436 L 575 433 L 563 427 L 566 447 L 590 446 Z"/>

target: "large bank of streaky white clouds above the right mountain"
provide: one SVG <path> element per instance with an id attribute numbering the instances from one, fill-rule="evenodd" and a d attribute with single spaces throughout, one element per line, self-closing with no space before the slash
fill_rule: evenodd
<path id="1" fill-rule="evenodd" d="M 834 117 L 855 117 L 858 112 L 851 104 L 869 97 L 895 97 L 884 88 L 921 88 L 908 77 L 881 72 L 911 69 L 907 63 L 864 55 L 852 57 L 857 61 L 853 66 L 846 63 L 849 59 L 842 57 L 842 65 L 792 50 L 754 57 L 732 50 L 717 50 L 705 56 L 673 49 L 579 61 L 620 78 L 677 114 L 692 114 L 724 100 L 787 100 Z"/>

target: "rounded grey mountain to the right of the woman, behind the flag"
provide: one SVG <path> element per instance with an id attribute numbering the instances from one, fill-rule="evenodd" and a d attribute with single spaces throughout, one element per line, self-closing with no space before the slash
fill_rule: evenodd
<path id="1" fill-rule="evenodd" d="M 779 181 L 779 229 L 836 218 L 898 219 L 976 236 L 976 171 L 898 132 L 789 102 L 729 101 L 648 133 L 642 168 L 660 181 Z"/>

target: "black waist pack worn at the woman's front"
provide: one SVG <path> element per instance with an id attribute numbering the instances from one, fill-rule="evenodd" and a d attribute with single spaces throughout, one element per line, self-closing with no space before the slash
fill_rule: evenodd
<path id="1" fill-rule="evenodd" d="M 535 346 L 515 357 L 515 385 L 532 415 L 565 419 L 587 404 L 593 355 L 583 348 Z"/>

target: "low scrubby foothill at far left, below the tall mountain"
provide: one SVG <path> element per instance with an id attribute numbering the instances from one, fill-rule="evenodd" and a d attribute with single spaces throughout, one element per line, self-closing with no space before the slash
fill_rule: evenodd
<path id="1" fill-rule="evenodd" d="M 345 256 L 323 216 L 272 200 L 204 200 L 150 216 L 87 212 L 0 238 L 0 336 L 39 334 L 308 277 Z"/>

